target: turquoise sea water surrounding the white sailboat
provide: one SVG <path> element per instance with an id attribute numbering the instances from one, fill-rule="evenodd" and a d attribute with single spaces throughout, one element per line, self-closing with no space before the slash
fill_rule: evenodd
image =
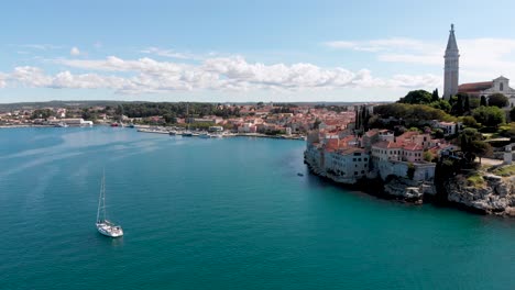
<path id="1" fill-rule="evenodd" d="M 515 220 L 338 188 L 304 146 L 0 130 L 0 289 L 515 287 Z M 95 227 L 103 167 L 119 239 Z"/>

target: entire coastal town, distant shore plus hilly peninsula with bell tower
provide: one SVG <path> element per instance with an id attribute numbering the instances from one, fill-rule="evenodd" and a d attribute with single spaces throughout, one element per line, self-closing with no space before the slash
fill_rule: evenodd
<path id="1" fill-rule="evenodd" d="M 0 108 L 0 126 L 109 125 L 183 136 L 305 140 L 309 170 L 335 182 L 408 202 L 443 199 L 513 214 L 515 194 L 506 178 L 515 172 L 515 89 L 503 76 L 459 85 L 459 57 L 451 25 L 441 97 L 435 89 L 409 91 L 394 103 L 20 103 Z M 456 185 L 465 190 L 450 190 Z"/>

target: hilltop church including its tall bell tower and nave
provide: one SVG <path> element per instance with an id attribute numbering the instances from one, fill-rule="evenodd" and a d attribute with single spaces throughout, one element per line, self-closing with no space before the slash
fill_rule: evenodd
<path id="1" fill-rule="evenodd" d="M 443 68 L 443 99 L 449 100 L 451 96 L 458 92 L 467 93 L 471 97 L 486 99 L 494 93 L 502 93 L 509 100 L 509 105 L 515 105 L 515 89 L 509 87 L 509 79 L 501 76 L 491 81 L 461 83 L 458 86 L 459 80 L 459 58 L 458 44 L 454 36 L 454 25 L 451 24 L 449 41 L 447 42 Z"/>

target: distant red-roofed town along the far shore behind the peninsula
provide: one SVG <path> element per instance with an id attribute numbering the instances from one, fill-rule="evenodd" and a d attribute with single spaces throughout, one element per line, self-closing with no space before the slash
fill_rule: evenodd
<path id="1" fill-rule="evenodd" d="M 173 116 L 157 111 L 133 113 L 132 107 L 153 108 L 160 103 L 122 103 L 113 105 L 66 105 L 39 109 L 25 108 L 0 112 L 0 126 L 92 126 L 134 125 L 143 132 L 180 132 L 188 126 L 194 131 L 224 131 L 239 134 L 305 137 L 314 129 L 333 131 L 354 122 L 355 110 L 362 103 L 304 104 L 304 103 L 254 103 L 254 104 L 206 104 L 176 103 L 179 108 Z M 376 104 L 368 103 L 369 107 Z M 193 112 L 187 112 L 188 107 Z M 196 113 L 208 109 L 212 114 Z M 223 112 L 223 113 L 220 113 Z M 227 113 L 228 112 L 228 113 Z"/>

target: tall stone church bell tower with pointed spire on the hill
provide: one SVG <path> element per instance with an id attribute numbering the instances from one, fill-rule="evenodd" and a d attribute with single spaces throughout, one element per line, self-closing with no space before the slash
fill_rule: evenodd
<path id="1" fill-rule="evenodd" d="M 443 68 L 443 99 L 449 100 L 458 93 L 459 60 L 460 54 L 456 44 L 454 24 L 451 24 L 449 41 L 447 42 L 446 65 Z"/>

